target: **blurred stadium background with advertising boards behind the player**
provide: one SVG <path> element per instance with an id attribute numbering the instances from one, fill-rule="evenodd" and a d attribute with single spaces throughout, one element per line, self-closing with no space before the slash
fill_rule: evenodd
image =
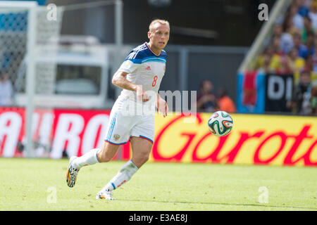
<path id="1" fill-rule="evenodd" d="M 151 162 L 317 165 L 315 0 L 0 1 L 0 157 L 100 146 L 112 75 L 156 18 L 170 22 L 160 90 L 197 91 L 198 113 L 157 115 Z M 230 135 L 209 133 L 216 110 L 232 115 Z M 130 155 L 127 143 L 113 160 Z"/>

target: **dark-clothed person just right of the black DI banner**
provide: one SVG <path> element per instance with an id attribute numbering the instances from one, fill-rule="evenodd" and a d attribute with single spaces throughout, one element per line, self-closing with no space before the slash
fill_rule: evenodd
<path id="1" fill-rule="evenodd" d="M 309 70 L 302 70 L 299 83 L 294 86 L 292 101 L 287 106 L 293 108 L 294 113 L 309 115 L 311 113 L 311 75 Z"/>

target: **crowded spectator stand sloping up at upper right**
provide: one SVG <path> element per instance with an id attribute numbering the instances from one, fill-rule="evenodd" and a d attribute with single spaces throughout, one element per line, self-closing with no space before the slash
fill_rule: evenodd
<path id="1" fill-rule="evenodd" d="M 311 96 L 317 86 L 316 29 L 317 1 L 293 0 L 281 20 L 275 22 L 266 48 L 256 58 L 255 69 L 261 69 L 265 75 L 293 75 L 292 98 L 286 105 L 294 114 L 313 113 Z"/>

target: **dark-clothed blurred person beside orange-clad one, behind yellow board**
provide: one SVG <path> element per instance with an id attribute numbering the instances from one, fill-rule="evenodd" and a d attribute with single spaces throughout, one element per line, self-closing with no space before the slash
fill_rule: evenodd
<path id="1" fill-rule="evenodd" d="M 217 107 L 216 96 L 213 94 L 213 83 L 207 79 L 201 82 L 197 96 L 197 110 L 213 112 Z"/>

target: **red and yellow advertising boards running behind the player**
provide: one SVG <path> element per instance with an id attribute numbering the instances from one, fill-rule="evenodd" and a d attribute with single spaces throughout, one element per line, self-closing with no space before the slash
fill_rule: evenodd
<path id="1" fill-rule="evenodd" d="M 0 108 L 0 157 L 24 157 L 25 109 Z M 110 110 L 35 110 L 32 139 L 37 156 L 80 156 L 104 142 Z M 155 139 L 150 161 L 261 165 L 317 165 L 317 117 L 231 115 L 228 136 L 209 132 L 210 113 L 192 122 L 184 115 L 155 117 Z M 129 160 L 130 143 L 117 158 Z"/>

